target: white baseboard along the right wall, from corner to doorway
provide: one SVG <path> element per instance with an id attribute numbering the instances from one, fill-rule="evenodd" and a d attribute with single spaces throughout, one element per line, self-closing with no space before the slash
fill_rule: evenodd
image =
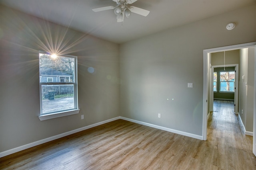
<path id="1" fill-rule="evenodd" d="M 202 140 L 202 136 L 200 136 L 200 135 L 195 135 L 195 134 L 192 134 L 192 133 L 187 133 L 187 132 L 178 131 L 178 130 L 175 130 L 175 129 L 170 129 L 170 128 L 167 128 L 167 127 L 162 127 L 162 126 L 158 126 L 158 125 L 153 125 L 153 124 L 150 124 L 150 123 L 145 123 L 145 122 L 142 122 L 142 121 L 137 121 L 137 120 L 129 119 L 129 118 L 122 117 L 122 116 L 120 116 L 120 119 L 123 119 L 123 120 L 126 120 L 126 121 L 131 121 L 131 122 L 133 122 L 133 123 L 138 123 L 138 124 L 140 124 L 140 125 L 145 125 L 145 126 L 149 126 L 149 127 L 154 127 L 154 128 L 156 128 L 156 129 L 161 129 L 161 130 L 168 131 L 168 132 L 172 132 L 172 133 L 176 133 L 176 134 L 179 134 L 179 135 L 184 135 L 184 136 L 187 136 L 187 137 L 192 137 L 192 138 L 195 138 L 195 139 L 200 139 L 200 140 Z"/>

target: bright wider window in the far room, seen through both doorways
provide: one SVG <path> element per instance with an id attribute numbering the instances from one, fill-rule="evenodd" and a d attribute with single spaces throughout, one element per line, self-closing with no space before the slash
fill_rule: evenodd
<path id="1" fill-rule="evenodd" d="M 234 92 L 235 72 L 220 72 L 220 92 Z"/>

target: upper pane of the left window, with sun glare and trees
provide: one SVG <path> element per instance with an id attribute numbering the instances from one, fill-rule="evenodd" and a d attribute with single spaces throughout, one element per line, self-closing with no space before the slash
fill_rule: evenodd
<path id="1" fill-rule="evenodd" d="M 40 82 L 74 82 L 74 58 L 40 54 Z"/>

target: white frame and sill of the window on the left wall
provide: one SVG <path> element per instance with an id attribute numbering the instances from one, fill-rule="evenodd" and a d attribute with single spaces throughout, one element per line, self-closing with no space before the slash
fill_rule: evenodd
<path id="1" fill-rule="evenodd" d="M 40 54 L 47 54 L 49 55 L 49 53 L 46 53 L 44 51 L 39 51 L 38 57 L 40 56 Z M 41 121 L 43 120 L 47 120 L 47 119 L 54 119 L 57 117 L 63 117 L 63 116 L 67 116 L 67 115 L 74 115 L 74 114 L 78 114 L 80 109 L 78 109 L 78 91 L 77 91 L 77 57 L 76 56 L 71 56 L 71 55 L 61 55 L 61 57 L 70 57 L 70 58 L 74 58 L 74 80 L 73 82 L 41 82 L 40 81 L 40 116 L 39 119 Z M 42 113 L 42 85 L 54 85 L 54 84 L 73 84 L 74 86 L 74 109 L 69 109 L 69 110 L 65 110 L 65 111 L 57 111 L 57 112 L 51 112 L 51 113 Z"/>

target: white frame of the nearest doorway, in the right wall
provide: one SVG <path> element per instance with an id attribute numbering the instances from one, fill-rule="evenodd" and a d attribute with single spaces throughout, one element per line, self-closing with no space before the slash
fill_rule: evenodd
<path id="1" fill-rule="evenodd" d="M 204 49 L 203 50 L 203 127 L 202 127 L 202 139 L 207 140 L 207 115 L 208 115 L 208 89 L 209 89 L 209 84 L 208 84 L 208 54 L 209 53 L 216 53 L 220 51 L 228 51 L 228 50 L 236 50 L 236 49 L 242 49 L 242 48 L 248 48 L 248 47 L 254 47 L 254 51 L 256 48 L 256 42 L 252 43 L 244 43 L 244 44 L 238 44 L 238 45 L 230 45 L 226 47 L 217 47 L 217 48 L 212 48 L 212 49 Z M 255 61 L 256 61 L 256 53 L 255 53 Z M 256 62 L 254 62 L 256 63 Z M 256 69 L 254 69 L 255 72 Z M 256 75 L 254 74 L 254 77 Z M 255 80 L 254 80 L 255 81 Z M 256 83 L 254 83 L 254 101 L 256 101 Z M 256 107 L 254 102 L 254 108 Z M 254 129 L 256 129 L 256 109 L 254 109 Z M 253 131 L 253 137 L 254 137 L 254 145 L 253 145 L 253 150 L 255 150 L 256 154 L 256 130 Z"/>

